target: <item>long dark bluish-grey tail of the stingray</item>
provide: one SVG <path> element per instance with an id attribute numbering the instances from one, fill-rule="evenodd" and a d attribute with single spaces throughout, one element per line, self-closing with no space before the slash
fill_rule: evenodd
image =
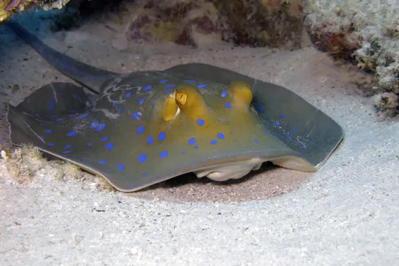
<path id="1" fill-rule="evenodd" d="M 55 51 L 53 48 L 46 46 L 39 38 L 29 33 L 15 21 L 5 21 L 4 24 L 21 37 L 21 39 L 24 39 L 26 43 L 34 48 L 39 55 L 42 55 L 55 69 L 93 91 L 99 92 L 104 82 L 118 75 L 114 72 L 91 67 L 88 64 L 84 64 Z"/>

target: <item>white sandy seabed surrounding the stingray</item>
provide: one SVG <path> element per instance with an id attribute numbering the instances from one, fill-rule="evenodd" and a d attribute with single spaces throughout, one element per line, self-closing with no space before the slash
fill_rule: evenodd
<path id="1" fill-rule="evenodd" d="M 2 28 L 0 34 L 2 102 L 17 104 L 55 76 L 68 80 L 17 37 Z M 159 190 L 166 188 L 141 199 L 94 186 L 82 189 L 80 181 L 57 181 L 51 172 L 41 172 L 30 184 L 12 184 L 1 170 L 0 265 L 399 264 L 399 123 L 378 121 L 371 100 L 358 96 L 351 84 L 355 73 L 335 67 L 313 48 L 272 53 L 161 44 L 118 51 L 112 48 L 115 34 L 88 24 L 46 43 L 112 71 L 205 62 L 274 82 L 332 116 L 346 139 L 299 188 L 247 202 L 165 201 Z M 10 94 L 13 84 L 21 89 Z M 1 119 L 4 141 L 7 127 Z M 178 188 L 168 191 L 173 189 Z"/>

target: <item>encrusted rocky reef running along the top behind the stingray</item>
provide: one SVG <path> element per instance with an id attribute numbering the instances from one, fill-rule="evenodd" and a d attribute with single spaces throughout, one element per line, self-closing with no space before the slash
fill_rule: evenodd
<path id="1" fill-rule="evenodd" d="M 1 0 L 0 0 L 1 1 Z M 2 0 L 0 21 L 25 8 L 62 8 L 69 0 Z M 127 19 L 127 42 L 212 45 L 215 40 L 252 47 L 296 49 L 310 44 L 373 73 L 375 109 L 399 114 L 399 3 L 396 0 L 71 0 L 54 30 L 76 26 L 109 7 Z M 106 8 L 104 8 L 106 7 Z M 123 9 L 123 8 L 122 8 Z M 78 22 L 80 21 L 80 22 Z M 309 39 L 310 37 L 310 39 Z"/>

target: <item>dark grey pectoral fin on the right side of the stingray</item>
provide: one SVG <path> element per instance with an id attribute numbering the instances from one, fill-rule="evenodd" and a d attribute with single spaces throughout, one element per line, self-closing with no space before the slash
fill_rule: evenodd
<path id="1" fill-rule="evenodd" d="M 270 134 L 316 169 L 344 139 L 342 127 L 332 118 L 284 87 L 209 64 L 181 64 L 166 71 L 227 85 L 236 80 L 246 82 L 254 95 L 252 105 Z"/>

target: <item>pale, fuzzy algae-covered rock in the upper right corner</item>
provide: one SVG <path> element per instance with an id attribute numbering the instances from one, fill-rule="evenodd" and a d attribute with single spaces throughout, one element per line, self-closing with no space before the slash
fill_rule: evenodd
<path id="1" fill-rule="evenodd" d="M 376 109 L 399 114 L 399 2 L 308 0 L 305 12 L 315 44 L 375 72 Z"/>

